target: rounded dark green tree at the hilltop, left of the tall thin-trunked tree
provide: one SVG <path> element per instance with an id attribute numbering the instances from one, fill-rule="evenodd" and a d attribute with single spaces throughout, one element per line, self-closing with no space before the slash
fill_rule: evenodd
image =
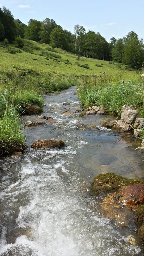
<path id="1" fill-rule="evenodd" d="M 52 43 L 53 46 L 66 49 L 67 48 L 67 40 L 66 40 L 66 35 L 62 28 L 60 27 L 55 27 L 51 34 L 50 34 L 50 42 Z"/>

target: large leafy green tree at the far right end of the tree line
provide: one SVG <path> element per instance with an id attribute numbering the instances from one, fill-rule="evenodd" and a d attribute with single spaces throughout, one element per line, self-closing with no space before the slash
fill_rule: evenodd
<path id="1" fill-rule="evenodd" d="M 141 67 L 144 60 L 143 42 L 139 41 L 138 35 L 131 31 L 124 38 L 124 54 L 122 61 L 132 68 Z"/>

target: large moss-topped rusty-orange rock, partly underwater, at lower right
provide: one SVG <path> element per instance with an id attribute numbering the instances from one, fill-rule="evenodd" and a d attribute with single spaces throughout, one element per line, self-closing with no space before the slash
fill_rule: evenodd
<path id="1" fill-rule="evenodd" d="M 144 242 L 144 181 L 127 179 L 114 173 L 99 174 L 95 177 L 91 195 L 100 195 L 104 214 L 114 219 L 117 225 L 127 226 L 135 215 L 139 227 L 138 237 Z M 134 214 L 134 211 L 135 214 Z M 132 243 L 135 242 L 132 240 Z"/>

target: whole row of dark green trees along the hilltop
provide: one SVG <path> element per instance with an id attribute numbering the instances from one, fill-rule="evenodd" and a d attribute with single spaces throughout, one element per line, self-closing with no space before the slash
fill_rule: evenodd
<path id="1" fill-rule="evenodd" d="M 14 20 L 9 9 L 0 8 L 0 41 L 7 38 L 12 42 L 16 37 L 51 44 L 53 48 L 62 48 L 87 58 L 124 63 L 135 69 L 144 62 L 144 42 L 134 31 L 118 40 L 112 37 L 108 43 L 100 33 L 86 32 L 79 24 L 74 26 L 73 34 L 49 18 L 44 21 L 30 19 L 25 25 L 19 19 Z"/>

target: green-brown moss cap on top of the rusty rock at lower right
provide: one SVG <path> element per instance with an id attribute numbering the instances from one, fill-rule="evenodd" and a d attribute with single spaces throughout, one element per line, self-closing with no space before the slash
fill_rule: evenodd
<path id="1" fill-rule="evenodd" d="M 134 183 L 144 184 L 140 179 L 128 179 L 112 172 L 106 174 L 98 174 L 94 178 L 94 183 L 91 189 L 91 195 L 107 195 L 117 191 L 122 186 L 133 185 Z"/>

